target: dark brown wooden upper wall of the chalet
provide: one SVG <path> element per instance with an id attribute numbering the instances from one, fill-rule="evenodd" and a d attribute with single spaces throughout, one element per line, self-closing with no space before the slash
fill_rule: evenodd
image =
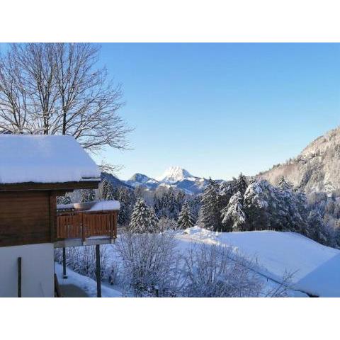
<path id="1" fill-rule="evenodd" d="M 55 204 L 51 191 L 0 192 L 0 246 L 54 242 Z"/>

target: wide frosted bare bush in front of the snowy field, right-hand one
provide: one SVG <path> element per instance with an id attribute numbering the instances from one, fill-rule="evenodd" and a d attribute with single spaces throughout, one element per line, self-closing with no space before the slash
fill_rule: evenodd
<path id="1" fill-rule="evenodd" d="M 257 297 L 263 285 L 243 256 L 218 245 L 196 244 L 185 258 L 188 297 Z"/>

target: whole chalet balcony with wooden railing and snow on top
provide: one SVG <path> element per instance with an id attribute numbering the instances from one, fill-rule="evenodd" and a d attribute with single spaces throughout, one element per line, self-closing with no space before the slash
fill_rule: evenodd
<path id="1" fill-rule="evenodd" d="M 114 200 L 57 205 L 55 247 L 114 242 L 119 208 L 119 203 Z"/>

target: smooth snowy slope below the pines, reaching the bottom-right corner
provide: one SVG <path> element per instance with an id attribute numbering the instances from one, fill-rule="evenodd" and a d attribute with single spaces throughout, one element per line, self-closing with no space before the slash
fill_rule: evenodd
<path id="1" fill-rule="evenodd" d="M 340 251 L 294 232 L 215 233 L 193 227 L 179 234 L 181 242 L 234 246 L 254 259 L 261 273 L 280 280 L 294 273 L 293 288 L 322 297 L 340 297 Z"/>

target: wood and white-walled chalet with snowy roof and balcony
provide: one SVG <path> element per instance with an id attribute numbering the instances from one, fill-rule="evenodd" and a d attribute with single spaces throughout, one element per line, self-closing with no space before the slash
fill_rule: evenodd
<path id="1" fill-rule="evenodd" d="M 0 135 L 0 297 L 55 296 L 56 247 L 96 245 L 99 263 L 99 244 L 117 236 L 119 203 L 56 202 L 99 181 L 71 136 Z M 100 295 L 100 273 L 97 283 Z"/>

